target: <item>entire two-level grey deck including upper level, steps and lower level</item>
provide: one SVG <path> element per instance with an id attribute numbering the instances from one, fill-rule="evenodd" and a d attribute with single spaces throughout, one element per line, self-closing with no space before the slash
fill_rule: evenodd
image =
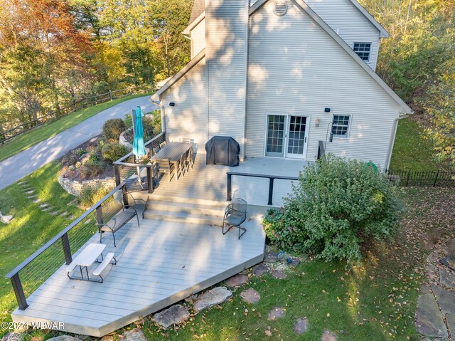
<path id="1" fill-rule="evenodd" d="M 101 337 L 254 266 L 264 257 L 261 219 L 268 207 L 268 179 L 232 178 L 232 194 L 239 189 L 249 204 L 247 221 L 242 224 L 247 233 L 240 240 L 237 231 L 223 236 L 219 226 L 191 224 L 184 215 L 193 212 L 194 223 L 210 209 L 221 224 L 222 218 L 216 212 L 223 211 L 226 204 L 228 171 L 296 177 L 304 164 L 284 159 L 247 159 L 239 167 L 207 166 L 205 155 L 198 154 L 195 167 L 181 179 L 168 182 L 166 175 L 154 194 L 135 193 L 149 199 L 152 208 L 161 203 L 159 207 L 171 211 L 169 205 L 183 203 L 172 209 L 187 213 L 178 213 L 178 221 L 164 216 L 141 219 L 140 227 L 130 222 L 115 234 L 117 248 L 112 235 L 107 234 L 103 237 L 105 254 L 114 252 L 117 265 L 108 266 L 102 273 L 104 283 L 70 280 L 62 265 L 27 298 L 26 310 L 11 314 L 13 320 L 63 322 L 67 332 Z M 282 196 L 290 190 L 290 181 L 276 180 L 274 206 L 282 205 Z M 198 210 L 200 216 L 195 213 Z M 95 234 L 87 243 L 98 241 L 99 235 Z M 92 266 L 90 270 L 94 269 Z"/>

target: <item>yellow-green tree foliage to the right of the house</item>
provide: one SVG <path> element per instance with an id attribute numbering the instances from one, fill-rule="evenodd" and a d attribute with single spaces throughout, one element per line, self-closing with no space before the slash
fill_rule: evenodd
<path id="1" fill-rule="evenodd" d="M 392 36 L 381 41 L 379 75 L 424 115 L 437 156 L 455 165 L 455 1 L 360 2 Z"/>

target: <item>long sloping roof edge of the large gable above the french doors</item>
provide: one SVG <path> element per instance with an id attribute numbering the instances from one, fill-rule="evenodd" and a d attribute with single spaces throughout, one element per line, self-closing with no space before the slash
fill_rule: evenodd
<path id="1" fill-rule="evenodd" d="M 261 6 L 264 5 L 267 1 L 269 1 L 269 0 L 258 0 L 254 5 L 252 5 L 250 7 L 250 11 L 249 11 L 250 16 L 252 16 L 252 14 L 254 14 L 255 11 L 257 11 L 259 8 L 261 8 Z M 313 19 L 319 26 L 321 26 L 321 28 L 324 31 L 326 31 L 326 33 L 329 36 L 331 36 L 331 38 L 333 38 L 333 40 L 336 41 L 338 43 L 338 45 L 341 46 L 341 48 L 343 48 L 343 50 L 346 51 L 346 53 L 348 53 L 348 55 L 351 56 L 354 59 L 354 61 L 356 61 L 358 63 L 358 65 L 360 65 L 360 67 L 363 68 L 363 70 L 365 70 L 365 72 L 368 73 L 368 75 L 370 75 L 370 77 L 373 78 L 373 80 L 375 80 L 375 82 L 378 83 L 378 85 L 380 85 L 380 87 L 382 89 L 384 89 L 385 92 L 388 93 L 390 95 L 390 97 L 393 98 L 393 100 L 395 100 L 395 102 L 398 103 L 398 105 L 400 105 L 403 114 L 412 114 L 413 113 L 412 109 L 400 98 L 400 96 L 398 96 L 389 87 L 389 85 L 387 85 L 384 82 L 384 80 L 382 80 L 375 73 L 375 71 L 373 71 L 370 68 L 370 66 L 368 66 L 367 63 L 365 63 L 362 59 L 360 59 L 360 57 L 357 56 L 357 53 L 355 53 L 353 51 L 353 49 L 350 48 L 348 46 L 348 44 L 345 41 L 343 41 L 343 39 L 340 36 L 338 36 L 338 34 L 336 34 L 335 31 L 333 31 L 333 29 L 330 26 L 328 26 L 328 24 L 325 21 L 323 21 L 321 19 L 321 17 L 316 14 L 315 11 L 313 11 L 303 0 L 291 0 L 291 1 L 293 1 L 294 4 L 296 4 L 296 6 L 299 7 L 299 9 L 306 12 L 306 14 L 308 14 L 311 17 L 311 19 Z"/>

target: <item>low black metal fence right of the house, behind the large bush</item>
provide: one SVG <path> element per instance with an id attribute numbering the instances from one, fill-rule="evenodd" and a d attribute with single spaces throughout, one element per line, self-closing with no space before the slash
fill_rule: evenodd
<path id="1" fill-rule="evenodd" d="M 415 172 L 387 169 L 390 181 L 401 187 L 455 187 L 455 172 Z"/>

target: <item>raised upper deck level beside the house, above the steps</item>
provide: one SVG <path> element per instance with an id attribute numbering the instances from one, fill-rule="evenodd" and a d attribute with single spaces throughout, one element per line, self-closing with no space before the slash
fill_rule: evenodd
<path id="1" fill-rule="evenodd" d="M 239 167 L 206 165 L 205 154 L 197 154 L 193 169 L 180 179 L 168 182 L 166 174 L 150 199 L 159 196 L 176 196 L 208 201 L 226 201 L 226 172 L 279 175 L 282 177 L 298 177 L 304 165 L 303 160 L 250 158 L 240 162 Z M 145 174 L 145 173 L 144 173 Z M 232 177 L 232 194 L 241 192 L 247 203 L 255 206 L 267 206 L 269 195 L 269 179 L 257 177 Z M 291 192 L 291 181 L 275 180 L 273 206 L 282 206 L 283 196 Z"/>

